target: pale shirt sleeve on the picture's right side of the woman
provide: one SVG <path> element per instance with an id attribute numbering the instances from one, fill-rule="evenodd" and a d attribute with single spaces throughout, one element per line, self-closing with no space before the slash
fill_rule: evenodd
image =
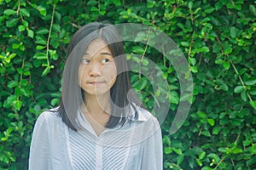
<path id="1" fill-rule="evenodd" d="M 159 122 L 154 121 L 156 131 L 146 141 L 143 147 L 142 170 L 162 170 L 163 169 L 163 151 L 162 135 Z"/>

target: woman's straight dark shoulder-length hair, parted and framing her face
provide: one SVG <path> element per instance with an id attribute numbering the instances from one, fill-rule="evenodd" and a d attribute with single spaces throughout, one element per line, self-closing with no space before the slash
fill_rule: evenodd
<path id="1" fill-rule="evenodd" d="M 79 64 L 84 50 L 89 46 L 90 42 L 99 38 L 108 44 L 113 58 L 125 56 L 124 44 L 119 37 L 119 32 L 113 25 L 92 22 L 82 26 L 79 31 L 75 32 L 67 48 L 67 60 L 62 75 L 61 102 L 58 109 L 62 121 L 74 131 L 77 131 L 80 127 L 77 117 L 79 108 L 84 102 L 84 90 L 80 88 L 78 83 Z M 117 71 L 120 72 L 116 77 L 116 82 L 110 89 L 113 114 L 110 115 L 105 125 L 105 127 L 109 128 L 137 119 L 137 111 L 135 115 L 131 116 L 131 113 L 129 113 L 131 111 L 127 111 L 124 108 L 131 108 L 127 107 L 129 102 L 140 105 L 136 95 L 130 91 L 131 84 L 125 57 L 114 59 L 114 61 Z M 128 92 L 129 100 L 127 99 Z"/>

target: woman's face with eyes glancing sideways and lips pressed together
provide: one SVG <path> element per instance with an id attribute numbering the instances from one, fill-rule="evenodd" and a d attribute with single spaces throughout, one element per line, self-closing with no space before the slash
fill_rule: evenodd
<path id="1" fill-rule="evenodd" d="M 91 42 L 79 65 L 79 86 L 86 95 L 109 93 L 116 81 L 117 69 L 107 43 L 101 39 Z"/>

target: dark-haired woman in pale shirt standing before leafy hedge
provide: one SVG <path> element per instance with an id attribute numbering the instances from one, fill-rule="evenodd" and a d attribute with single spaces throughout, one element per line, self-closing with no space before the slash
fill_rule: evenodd
<path id="1" fill-rule="evenodd" d="M 67 56 L 60 106 L 38 117 L 29 169 L 162 169 L 159 122 L 131 93 L 114 26 L 81 27 Z"/>

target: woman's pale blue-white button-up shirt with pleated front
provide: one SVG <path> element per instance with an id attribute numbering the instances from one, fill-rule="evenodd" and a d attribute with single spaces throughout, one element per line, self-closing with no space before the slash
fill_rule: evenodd
<path id="1" fill-rule="evenodd" d="M 138 119 L 122 127 L 106 128 L 99 136 L 83 114 L 82 129 L 69 129 L 57 112 L 45 111 L 35 124 L 30 170 L 161 170 L 162 138 L 159 122 L 140 108 Z"/>

